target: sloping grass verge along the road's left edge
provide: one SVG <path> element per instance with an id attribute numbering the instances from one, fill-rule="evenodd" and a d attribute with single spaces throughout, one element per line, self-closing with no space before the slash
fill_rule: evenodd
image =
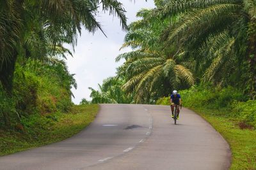
<path id="1" fill-rule="evenodd" d="M 0 155 L 20 152 L 69 138 L 88 126 L 97 115 L 99 105 L 74 106 L 70 113 L 31 115 L 22 118 L 20 132 L 0 130 Z M 24 127 L 24 129 L 23 129 Z M 18 128 L 19 129 L 19 128 Z"/>

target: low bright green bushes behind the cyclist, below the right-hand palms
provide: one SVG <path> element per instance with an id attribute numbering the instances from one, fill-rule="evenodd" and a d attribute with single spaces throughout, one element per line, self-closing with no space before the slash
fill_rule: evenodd
<path id="1" fill-rule="evenodd" d="M 241 90 L 234 87 L 220 88 L 212 85 L 193 86 L 181 90 L 182 105 L 188 108 L 216 110 L 212 115 L 232 118 L 239 123 L 256 128 L 256 101 L 248 101 Z M 170 104 L 170 97 L 161 97 L 157 104 Z"/>

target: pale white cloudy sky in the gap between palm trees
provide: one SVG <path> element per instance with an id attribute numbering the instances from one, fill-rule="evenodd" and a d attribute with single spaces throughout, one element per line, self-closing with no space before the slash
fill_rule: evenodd
<path id="1" fill-rule="evenodd" d="M 137 11 L 141 8 L 154 8 L 154 1 L 148 0 L 120 0 L 124 4 L 127 11 L 128 24 L 138 20 L 136 18 Z M 119 51 L 120 46 L 124 42 L 125 32 L 122 31 L 120 21 L 118 18 L 109 16 L 108 13 L 100 14 L 98 18 L 102 28 L 108 38 L 97 31 L 93 35 L 88 31 L 82 31 L 81 37 L 77 39 L 77 46 L 74 57 L 68 57 L 67 65 L 68 70 L 72 74 L 76 74 L 74 78 L 77 81 L 77 90 L 72 89 L 75 96 L 73 102 L 79 104 L 82 98 L 90 100 L 90 90 L 88 87 L 98 89 L 98 83 L 109 76 L 115 76 L 116 67 L 120 66 L 122 62 L 115 62 L 115 57 L 127 52 L 127 50 Z M 72 48 L 70 48 L 72 49 Z"/>

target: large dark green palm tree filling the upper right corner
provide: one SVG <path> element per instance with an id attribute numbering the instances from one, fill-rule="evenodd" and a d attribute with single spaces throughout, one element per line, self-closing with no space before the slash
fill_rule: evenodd
<path id="1" fill-rule="evenodd" d="M 242 80 L 253 97 L 255 7 L 253 0 L 162 1 L 147 20 L 179 18 L 166 27 L 162 38 L 165 45 L 179 45 L 177 53 L 184 53 L 187 60 L 195 60 L 196 76 L 203 77 L 204 81 L 237 85 L 237 81 Z"/>

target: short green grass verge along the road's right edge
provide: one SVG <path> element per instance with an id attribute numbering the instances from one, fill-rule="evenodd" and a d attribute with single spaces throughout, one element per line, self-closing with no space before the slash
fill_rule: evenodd
<path id="1" fill-rule="evenodd" d="M 232 151 L 232 164 L 230 170 L 256 169 L 256 131 L 241 129 L 238 120 L 232 120 L 225 115 L 224 111 L 209 110 L 205 108 L 191 108 L 201 117 L 205 118 L 216 131 L 226 139 Z M 215 114 L 219 112 L 218 114 Z"/>

